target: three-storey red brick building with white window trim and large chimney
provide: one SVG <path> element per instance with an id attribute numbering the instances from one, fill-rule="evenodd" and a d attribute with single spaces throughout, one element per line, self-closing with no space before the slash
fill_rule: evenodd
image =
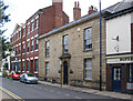
<path id="1" fill-rule="evenodd" d="M 69 22 L 62 3 L 62 0 L 52 0 L 52 6 L 38 10 L 25 23 L 16 24 L 10 38 L 11 70 L 38 74 L 38 37 Z"/>

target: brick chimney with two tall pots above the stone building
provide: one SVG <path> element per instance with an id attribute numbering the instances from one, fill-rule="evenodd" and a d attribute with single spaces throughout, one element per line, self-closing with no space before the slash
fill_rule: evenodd
<path id="1" fill-rule="evenodd" d="M 80 3 L 79 1 L 74 2 L 74 8 L 73 8 L 73 20 L 78 20 L 81 18 L 81 9 L 80 9 Z"/>

